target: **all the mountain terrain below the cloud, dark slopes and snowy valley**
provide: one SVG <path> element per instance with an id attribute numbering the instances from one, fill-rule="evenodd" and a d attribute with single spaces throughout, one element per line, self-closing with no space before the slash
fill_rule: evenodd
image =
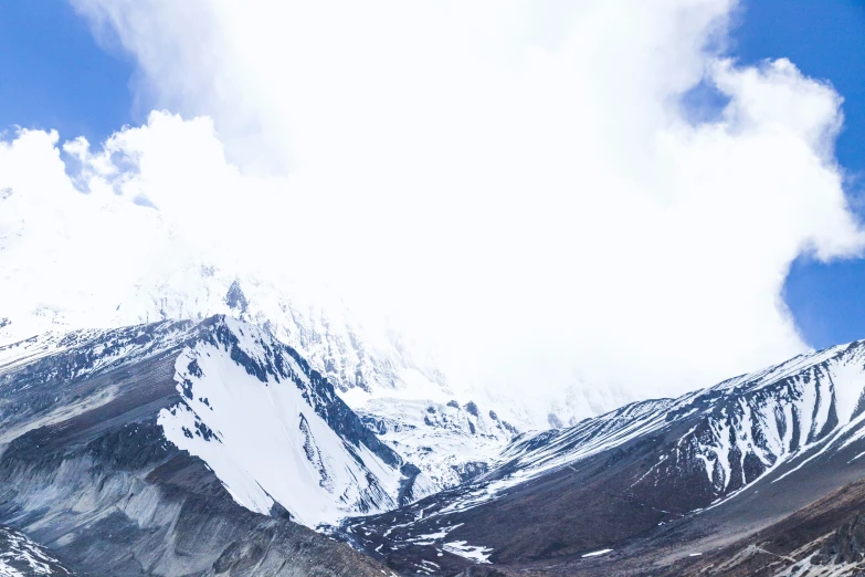
<path id="1" fill-rule="evenodd" d="M 0 575 L 865 570 L 863 342 L 524 432 L 222 298 L 0 346 Z"/>

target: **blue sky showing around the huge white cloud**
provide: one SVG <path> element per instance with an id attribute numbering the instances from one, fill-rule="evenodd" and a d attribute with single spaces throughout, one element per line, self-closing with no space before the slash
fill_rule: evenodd
<path id="1" fill-rule="evenodd" d="M 129 85 L 134 66 L 103 50 L 65 2 L 4 2 L 0 18 L 0 127 L 55 128 L 99 141 L 140 123 Z M 785 56 L 844 96 L 837 157 L 847 192 L 865 217 L 865 2 L 761 0 L 740 13 L 730 54 L 743 63 Z M 865 261 L 794 263 L 784 297 L 806 342 L 822 347 L 865 337 Z"/>

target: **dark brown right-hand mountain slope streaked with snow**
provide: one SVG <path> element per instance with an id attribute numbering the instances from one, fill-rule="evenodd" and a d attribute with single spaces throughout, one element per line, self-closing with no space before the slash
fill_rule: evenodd
<path id="1" fill-rule="evenodd" d="M 404 571 L 656 575 L 865 476 L 863 455 L 857 342 L 523 436 L 474 481 L 345 531 Z"/>

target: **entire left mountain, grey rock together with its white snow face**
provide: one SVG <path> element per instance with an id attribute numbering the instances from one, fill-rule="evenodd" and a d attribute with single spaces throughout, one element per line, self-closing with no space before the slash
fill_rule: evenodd
<path id="1" fill-rule="evenodd" d="M 76 574 L 382 573 L 303 525 L 392 507 L 414 474 L 251 325 L 33 338 L 0 348 L 0 522 Z"/>

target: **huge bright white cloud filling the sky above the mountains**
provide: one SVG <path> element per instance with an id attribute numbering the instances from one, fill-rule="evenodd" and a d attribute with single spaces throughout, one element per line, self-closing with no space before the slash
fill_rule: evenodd
<path id="1" fill-rule="evenodd" d="M 117 261 L 158 221 L 189 251 L 327 282 L 457 384 L 600 405 L 709 385 L 805 349 L 790 263 L 862 246 L 841 98 L 788 61 L 719 57 L 730 1 L 74 3 L 135 55 L 139 98 L 187 119 L 66 145 L 88 197 L 27 133 L 0 175 L 32 171 L 0 186 L 75 204 L 71 235 L 114 227 Z M 695 126 L 679 102 L 702 81 L 730 102 Z M 129 250 L 177 252 L 159 242 Z"/>

